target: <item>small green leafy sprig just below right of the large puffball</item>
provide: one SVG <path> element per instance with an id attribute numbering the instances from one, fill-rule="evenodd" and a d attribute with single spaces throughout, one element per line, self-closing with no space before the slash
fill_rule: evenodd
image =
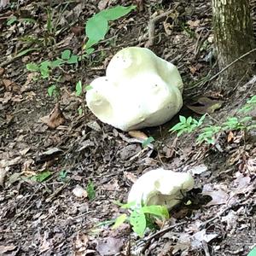
<path id="1" fill-rule="evenodd" d="M 199 126 L 202 125 L 204 119 L 206 118 L 206 114 L 201 116 L 201 119 L 196 120 L 189 116 L 187 119 L 180 115 L 179 116 L 179 123 L 174 125 L 169 131 L 177 131 L 177 137 L 181 136 L 183 133 L 189 133 L 195 131 Z"/>

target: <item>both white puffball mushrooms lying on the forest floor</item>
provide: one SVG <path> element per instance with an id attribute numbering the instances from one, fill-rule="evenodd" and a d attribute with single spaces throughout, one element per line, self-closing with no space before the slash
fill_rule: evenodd
<path id="1" fill-rule="evenodd" d="M 106 76 L 93 80 L 90 87 L 88 108 L 102 122 L 122 131 L 162 125 L 183 106 L 183 81 L 177 67 L 146 48 L 121 49 L 109 62 Z M 189 172 L 159 168 L 137 179 L 128 202 L 171 209 L 193 187 Z"/>

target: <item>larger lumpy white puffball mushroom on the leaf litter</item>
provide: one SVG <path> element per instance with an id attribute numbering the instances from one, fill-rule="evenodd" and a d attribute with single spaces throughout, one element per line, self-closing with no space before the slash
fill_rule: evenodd
<path id="1" fill-rule="evenodd" d="M 177 67 L 146 48 L 121 49 L 109 62 L 106 76 L 90 85 L 88 108 L 123 131 L 162 125 L 183 105 Z"/>

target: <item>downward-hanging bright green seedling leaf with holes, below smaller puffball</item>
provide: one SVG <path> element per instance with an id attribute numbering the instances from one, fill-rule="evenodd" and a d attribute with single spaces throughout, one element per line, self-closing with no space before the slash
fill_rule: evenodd
<path id="1" fill-rule="evenodd" d="M 134 230 L 138 236 L 143 237 L 147 226 L 145 214 L 139 210 L 133 211 L 131 212 L 129 220 L 132 226 L 132 230 Z"/>

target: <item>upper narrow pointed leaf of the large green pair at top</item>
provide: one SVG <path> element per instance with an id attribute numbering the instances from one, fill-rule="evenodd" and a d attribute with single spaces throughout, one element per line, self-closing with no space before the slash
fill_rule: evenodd
<path id="1" fill-rule="evenodd" d="M 129 14 L 133 9 L 136 9 L 135 5 L 127 7 L 117 5 L 113 8 L 102 10 L 98 15 L 102 15 L 106 20 L 117 20 L 120 17 Z"/>

